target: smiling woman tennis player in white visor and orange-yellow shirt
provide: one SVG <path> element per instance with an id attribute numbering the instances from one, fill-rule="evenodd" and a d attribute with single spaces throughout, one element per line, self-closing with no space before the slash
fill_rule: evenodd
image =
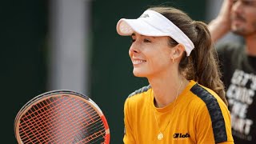
<path id="1" fill-rule="evenodd" d="M 205 23 L 153 7 L 137 19 L 120 19 L 117 31 L 132 38 L 134 75 L 150 83 L 126 99 L 124 143 L 234 143 Z"/>

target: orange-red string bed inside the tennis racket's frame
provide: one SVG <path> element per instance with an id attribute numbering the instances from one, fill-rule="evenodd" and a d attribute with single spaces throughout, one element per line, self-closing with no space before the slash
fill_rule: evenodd
<path id="1" fill-rule="evenodd" d="M 32 106 L 22 117 L 20 131 L 25 143 L 92 143 L 97 138 L 104 141 L 105 135 L 101 118 L 94 109 L 69 97 L 50 98 Z"/>

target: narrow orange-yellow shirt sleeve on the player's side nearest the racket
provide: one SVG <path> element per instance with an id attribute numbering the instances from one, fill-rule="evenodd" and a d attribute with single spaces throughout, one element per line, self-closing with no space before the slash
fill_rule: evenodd
<path id="1" fill-rule="evenodd" d="M 125 128 L 124 128 L 124 137 L 123 137 L 123 142 L 125 144 L 134 144 L 134 134 L 132 130 L 132 126 L 130 125 L 130 115 L 129 115 L 129 98 L 126 99 L 125 106 L 124 106 L 124 123 L 125 123 Z"/>

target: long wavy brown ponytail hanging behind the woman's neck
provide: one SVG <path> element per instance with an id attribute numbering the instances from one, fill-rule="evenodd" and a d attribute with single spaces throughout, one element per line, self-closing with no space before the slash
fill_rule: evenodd
<path id="1" fill-rule="evenodd" d="M 221 73 L 217 64 L 218 57 L 213 48 L 210 31 L 203 22 L 194 22 L 194 27 L 198 33 L 194 41 L 195 48 L 190 54 L 194 67 L 194 80 L 202 86 L 214 90 L 227 105 L 223 82 L 220 78 Z"/>

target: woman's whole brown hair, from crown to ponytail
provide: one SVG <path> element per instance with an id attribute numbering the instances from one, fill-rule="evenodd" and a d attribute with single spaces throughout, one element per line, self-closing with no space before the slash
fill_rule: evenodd
<path id="1" fill-rule="evenodd" d="M 221 73 L 218 68 L 218 58 L 216 50 L 213 48 L 213 42 L 210 32 L 204 22 L 193 21 L 182 10 L 173 7 L 152 7 L 149 10 L 157 11 L 168 18 L 174 25 L 186 34 L 194 43 L 194 50 L 186 57 L 184 53 L 179 63 L 180 72 L 186 79 L 198 82 L 214 90 L 223 102 L 226 103 L 225 90 L 221 80 Z M 170 38 L 170 46 L 176 46 L 178 42 Z"/>

